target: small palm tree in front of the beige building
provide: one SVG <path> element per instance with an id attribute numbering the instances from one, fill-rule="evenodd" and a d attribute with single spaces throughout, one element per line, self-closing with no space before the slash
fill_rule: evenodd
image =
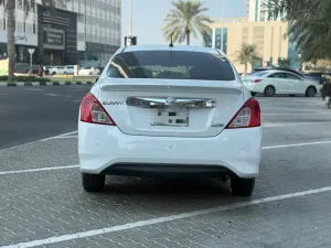
<path id="1" fill-rule="evenodd" d="M 254 62 L 259 60 L 260 57 L 258 56 L 257 46 L 255 44 L 243 43 L 236 54 L 236 61 L 245 65 L 245 75 L 247 75 L 248 64 L 253 65 Z"/>

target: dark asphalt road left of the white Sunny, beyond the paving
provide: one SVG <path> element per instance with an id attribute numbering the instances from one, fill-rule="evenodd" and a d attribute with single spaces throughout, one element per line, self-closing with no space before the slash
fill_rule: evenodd
<path id="1" fill-rule="evenodd" d="M 90 86 L 1 87 L 0 149 L 77 130 Z"/>

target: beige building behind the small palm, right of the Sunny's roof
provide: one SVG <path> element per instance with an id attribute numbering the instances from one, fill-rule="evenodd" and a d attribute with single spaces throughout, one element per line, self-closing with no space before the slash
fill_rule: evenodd
<path id="1" fill-rule="evenodd" d="M 289 53 L 293 50 L 289 40 L 285 37 L 288 29 L 287 22 L 248 22 L 246 18 L 241 18 L 225 19 L 222 22 L 215 20 L 210 26 L 212 43 L 209 46 L 221 50 L 223 40 L 223 52 L 227 54 L 241 73 L 244 72 L 244 65 L 236 61 L 236 56 L 243 43 L 257 45 L 258 56 L 261 60 L 254 66 L 277 65 L 278 58 L 288 58 Z"/>

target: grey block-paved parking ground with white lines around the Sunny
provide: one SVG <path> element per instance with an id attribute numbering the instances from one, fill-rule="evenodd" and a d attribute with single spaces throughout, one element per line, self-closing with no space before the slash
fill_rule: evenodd
<path id="1" fill-rule="evenodd" d="M 0 247 L 329 248 L 331 111 L 317 97 L 258 99 L 263 161 L 250 198 L 214 180 L 117 176 L 85 193 L 75 133 L 1 150 Z"/>

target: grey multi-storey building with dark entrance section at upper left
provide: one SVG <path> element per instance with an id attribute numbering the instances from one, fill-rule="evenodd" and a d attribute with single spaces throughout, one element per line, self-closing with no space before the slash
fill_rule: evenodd
<path id="1" fill-rule="evenodd" d="M 14 1 L 14 0 L 13 0 Z M 105 65 L 121 43 L 121 0 L 68 0 L 55 15 L 35 0 L 24 14 L 15 6 L 17 62 L 43 65 Z M 7 53 L 7 20 L 0 6 L 0 55 Z"/>

